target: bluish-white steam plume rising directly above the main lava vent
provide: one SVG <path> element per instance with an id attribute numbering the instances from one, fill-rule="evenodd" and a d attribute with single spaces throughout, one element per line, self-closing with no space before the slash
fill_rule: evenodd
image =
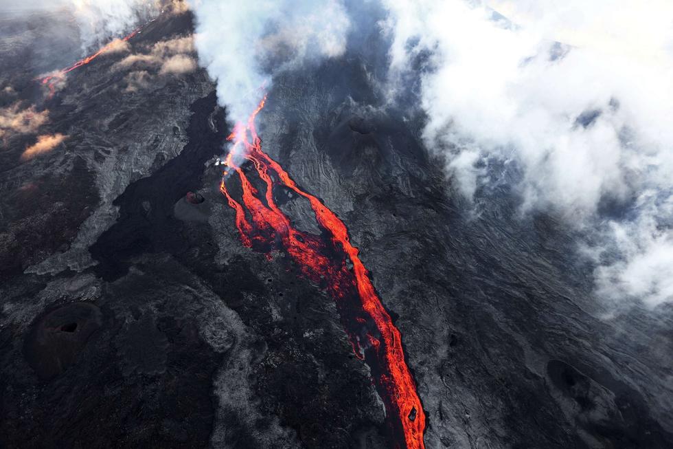
<path id="1" fill-rule="evenodd" d="M 194 0 L 199 62 L 229 118 L 245 120 L 273 75 L 339 56 L 350 28 L 339 0 Z"/>

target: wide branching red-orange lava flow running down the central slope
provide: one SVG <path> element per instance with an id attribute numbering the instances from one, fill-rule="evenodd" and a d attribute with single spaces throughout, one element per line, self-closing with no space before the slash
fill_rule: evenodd
<path id="1" fill-rule="evenodd" d="M 240 179 L 242 202 L 233 198 L 225 179 L 220 191 L 236 212 L 236 226 L 242 243 L 253 250 L 282 250 L 299 266 L 302 274 L 322 285 L 334 297 L 341 322 L 358 358 L 372 371 L 372 380 L 383 399 L 387 421 L 399 447 L 424 448 L 425 415 L 415 383 L 404 360 L 400 331 L 378 298 L 369 272 L 350 243 L 348 230 L 320 199 L 301 190 L 275 160 L 262 151 L 255 131 L 255 117 L 264 107 L 266 96 L 251 114 L 247 124 L 239 123 L 228 140 L 233 142 L 225 165 Z M 265 186 L 264 195 L 253 186 L 241 166 L 233 161 L 235 149 L 252 163 L 256 177 Z M 225 172 L 225 174 L 228 172 Z M 308 200 L 323 230 L 316 236 L 295 229 L 273 197 L 273 187 L 284 186 Z M 247 212 L 246 212 L 247 211 Z M 280 243 L 280 248 L 275 245 Z"/>

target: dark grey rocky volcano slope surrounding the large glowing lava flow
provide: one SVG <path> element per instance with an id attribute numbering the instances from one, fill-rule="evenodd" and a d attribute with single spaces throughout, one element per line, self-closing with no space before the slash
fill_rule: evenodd
<path id="1" fill-rule="evenodd" d="M 359 25 L 376 30 L 378 14 Z M 3 61 L 17 62 L 2 107 L 48 108 L 39 133 L 68 138 L 26 161 L 36 133 L 14 135 L 0 154 L 0 445 L 399 445 L 325 285 L 282 251 L 242 244 L 207 164 L 232 125 L 213 83 L 198 69 L 119 66 L 189 36 L 190 15 L 159 17 L 130 53 L 69 73 L 47 100 L 27 80 L 71 61 L 31 63 L 21 39 L 41 28 L 26 30 L 3 36 Z M 258 133 L 360 249 L 402 336 L 425 446 L 670 447 L 671 311 L 602 320 L 591 267 L 554 217 L 522 219 L 507 188 L 473 214 L 420 143 L 413 89 L 383 106 L 386 51 L 359 33 L 343 58 L 286 72 Z M 241 169 L 265 191 L 252 164 Z M 240 201 L 238 178 L 226 186 Z M 185 201 L 190 191 L 205 201 Z M 273 199 L 326 238 L 304 197 L 277 186 Z"/>

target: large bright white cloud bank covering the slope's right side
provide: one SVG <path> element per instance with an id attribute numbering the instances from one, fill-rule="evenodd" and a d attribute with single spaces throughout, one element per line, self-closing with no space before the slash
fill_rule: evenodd
<path id="1" fill-rule="evenodd" d="M 431 55 L 424 139 L 466 196 L 490 161 L 514 162 L 524 210 L 600 230 L 601 294 L 673 301 L 673 3 L 383 3 L 393 74 Z M 626 217 L 605 218 L 608 201 Z"/>

